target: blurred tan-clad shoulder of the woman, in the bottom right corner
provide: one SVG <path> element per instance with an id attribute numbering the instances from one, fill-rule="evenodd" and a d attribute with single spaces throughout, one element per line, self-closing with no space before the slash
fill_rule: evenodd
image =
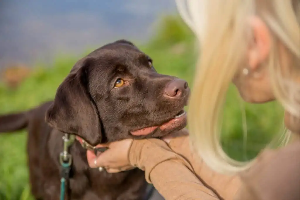
<path id="1" fill-rule="evenodd" d="M 235 200 L 299 200 L 300 142 L 264 151 L 241 180 Z"/>

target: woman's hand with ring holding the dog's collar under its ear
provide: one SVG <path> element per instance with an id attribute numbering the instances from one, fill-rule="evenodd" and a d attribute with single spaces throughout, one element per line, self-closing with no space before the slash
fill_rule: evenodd
<path id="1" fill-rule="evenodd" d="M 97 145 L 97 147 L 108 147 L 109 149 L 98 156 L 92 151 L 87 151 L 88 165 L 91 168 L 104 167 L 109 173 L 118 173 L 135 168 L 131 166 L 128 158 L 132 141 L 132 139 L 124 139 L 109 144 Z"/>

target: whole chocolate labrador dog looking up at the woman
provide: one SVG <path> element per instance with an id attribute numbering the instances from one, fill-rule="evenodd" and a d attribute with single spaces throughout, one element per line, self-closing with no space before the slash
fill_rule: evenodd
<path id="1" fill-rule="evenodd" d="M 36 199 L 58 200 L 64 133 L 77 136 L 66 199 L 141 200 L 144 172 L 109 174 L 91 169 L 89 145 L 126 138 L 162 137 L 186 126 L 187 82 L 155 71 L 152 59 L 126 40 L 80 59 L 57 89 L 54 101 L 27 112 L 0 116 L 0 132 L 28 128 L 28 165 Z M 46 122 L 45 120 L 46 119 Z"/>

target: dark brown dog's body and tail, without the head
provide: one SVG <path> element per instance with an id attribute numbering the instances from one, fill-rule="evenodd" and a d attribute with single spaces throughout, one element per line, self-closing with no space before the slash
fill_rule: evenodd
<path id="1" fill-rule="evenodd" d="M 59 154 L 63 149 L 63 133 L 52 129 L 44 121 L 52 101 L 28 112 L 0 117 L 7 128 L 15 131 L 28 128 L 27 152 L 29 178 L 32 194 L 36 199 L 58 200 L 60 192 Z M 14 120 L 13 120 L 14 119 Z M 9 129 L 8 129 L 9 128 Z M 70 171 L 70 199 L 143 199 L 146 183 L 144 173 L 138 169 L 109 174 L 92 169 L 86 162 L 86 150 L 75 140 L 70 148 L 72 166 Z"/>

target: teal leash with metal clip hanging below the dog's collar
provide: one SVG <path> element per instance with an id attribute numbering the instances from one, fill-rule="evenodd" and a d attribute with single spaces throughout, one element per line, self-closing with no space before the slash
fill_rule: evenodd
<path id="1" fill-rule="evenodd" d="M 72 164 L 72 155 L 69 153 L 69 147 L 74 143 L 75 136 L 64 134 L 64 149 L 59 154 L 59 162 L 61 164 L 61 179 L 60 179 L 60 200 L 64 200 L 66 193 L 66 184 L 69 182 L 70 167 Z"/>

